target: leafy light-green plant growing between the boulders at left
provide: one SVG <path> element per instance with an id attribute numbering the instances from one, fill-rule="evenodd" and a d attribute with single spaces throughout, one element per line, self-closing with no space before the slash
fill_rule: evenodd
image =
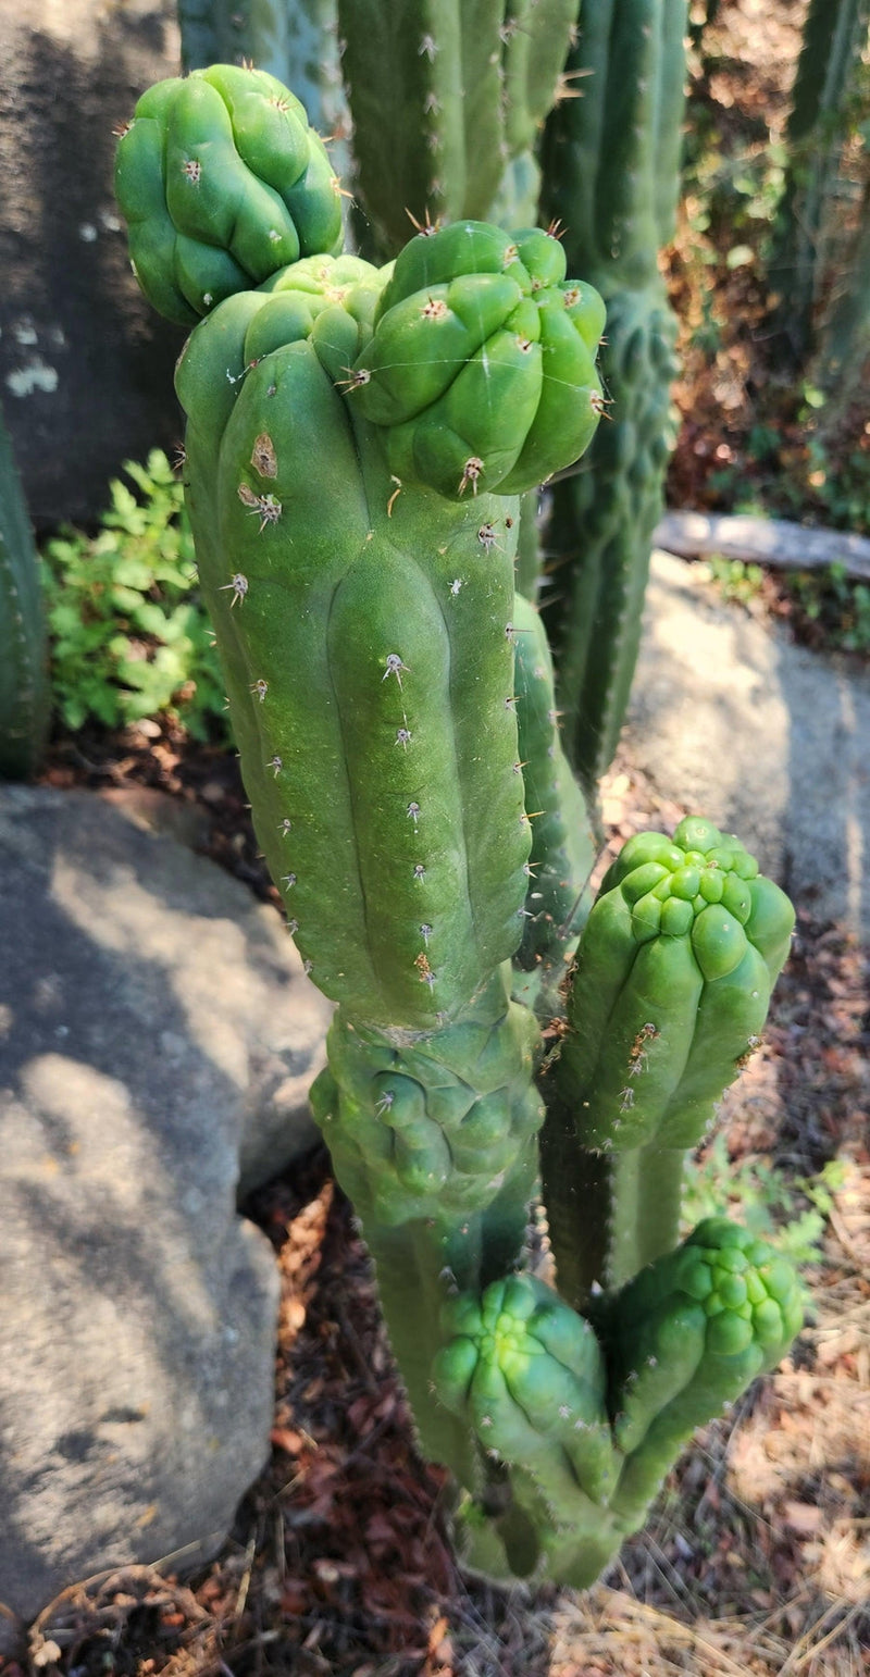
<path id="1" fill-rule="evenodd" d="M 101 530 L 44 550 L 52 688 L 67 728 L 119 728 L 159 711 L 205 740 L 225 729 L 223 683 L 199 605 L 184 490 L 166 454 L 126 461 Z"/>

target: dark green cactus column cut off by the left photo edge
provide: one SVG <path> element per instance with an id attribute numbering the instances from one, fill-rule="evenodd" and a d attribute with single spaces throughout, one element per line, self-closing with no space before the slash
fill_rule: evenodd
<path id="1" fill-rule="evenodd" d="M 0 411 L 0 778 L 34 773 L 49 709 L 39 557 Z"/>

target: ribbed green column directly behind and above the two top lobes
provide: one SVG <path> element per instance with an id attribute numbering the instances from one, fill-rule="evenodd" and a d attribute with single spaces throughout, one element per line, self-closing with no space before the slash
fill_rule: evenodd
<path id="1" fill-rule="evenodd" d="M 339 0 L 359 198 L 392 255 L 407 215 L 488 216 L 550 109 L 575 0 Z"/>

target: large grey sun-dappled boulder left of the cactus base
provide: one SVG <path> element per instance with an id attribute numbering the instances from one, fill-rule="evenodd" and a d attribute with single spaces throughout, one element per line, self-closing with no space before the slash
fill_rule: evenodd
<path id="1" fill-rule="evenodd" d="M 262 1466 L 277 1271 L 240 1142 L 298 1105 L 329 1008 L 272 909 L 89 793 L 0 790 L 0 1602 L 27 1618 L 205 1556 Z"/>

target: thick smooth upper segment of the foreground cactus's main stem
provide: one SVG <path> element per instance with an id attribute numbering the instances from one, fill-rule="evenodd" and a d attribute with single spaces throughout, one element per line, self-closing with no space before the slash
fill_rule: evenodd
<path id="1" fill-rule="evenodd" d="M 404 267 L 419 263 L 414 245 L 441 260 L 439 238 L 449 233 L 414 240 Z M 505 235 L 483 233 L 505 247 Z M 404 267 L 396 265 L 396 287 Z M 431 408 L 451 399 L 443 386 L 464 366 L 459 354 L 486 349 L 486 329 L 525 307 L 528 270 L 513 267 L 518 278 L 493 277 L 500 307 L 483 315 L 474 302 L 468 329 L 448 304 L 427 315 L 429 297 L 449 285 L 411 292 L 399 305 L 424 327 L 419 367 L 407 371 L 412 424 L 424 424 L 427 399 Z M 489 275 L 469 273 L 471 290 L 478 278 Z M 391 471 L 389 424 L 365 423 L 375 397 L 381 421 L 389 401 L 402 421 L 406 413 L 394 356 L 379 354 L 384 332 L 396 345 L 394 307 L 367 339 L 379 287 L 357 258 L 293 265 L 201 324 L 179 362 L 178 392 L 189 419 L 201 584 L 260 844 L 297 942 L 320 988 L 355 1016 L 426 1030 L 456 1016 L 521 932 L 530 823 L 515 771 L 516 500 L 483 491 L 495 406 L 486 384 L 468 424 L 458 404 L 466 434 L 454 433 L 453 501 L 419 476 L 399 481 Z M 541 314 L 553 292 L 562 297 L 541 287 Z M 572 307 L 562 304 L 568 320 Z M 446 367 L 444 325 L 459 335 Z M 593 374 L 570 330 L 582 347 L 582 429 Z M 411 354 L 414 342 L 402 349 L 406 361 Z M 567 359 L 577 364 L 570 347 Z M 367 381 L 364 362 L 375 369 Z M 531 362 L 523 354 L 516 364 L 516 389 L 506 377 L 498 386 L 516 424 L 503 475 L 516 476 L 530 438 L 541 446 L 540 381 L 536 404 L 521 394 Z M 560 436 L 553 449 L 562 448 Z M 474 458 L 479 493 L 473 485 L 459 496 L 459 475 Z M 329 500 L 324 459 L 335 485 Z"/>

